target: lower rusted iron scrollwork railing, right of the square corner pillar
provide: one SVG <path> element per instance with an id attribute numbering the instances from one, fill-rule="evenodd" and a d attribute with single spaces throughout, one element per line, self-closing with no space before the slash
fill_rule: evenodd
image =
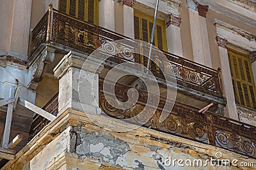
<path id="1" fill-rule="evenodd" d="M 106 81 L 104 83 L 106 83 Z M 132 109 L 118 110 L 115 106 L 115 99 L 111 99 L 111 95 L 108 94 L 109 88 L 114 89 L 115 96 L 118 100 L 124 102 L 128 99 L 126 95 L 128 90 L 134 87 L 122 83 L 116 83 L 115 87 L 113 87 L 113 83 L 109 83 L 109 86 L 106 85 L 104 93 L 108 94 L 108 101 L 112 102 L 109 104 L 102 90 L 103 80 L 101 80 L 99 84 L 100 108 L 110 117 L 123 119 L 125 121 L 127 118 L 136 117 L 136 115 L 145 108 L 148 99 L 147 91 L 137 89 L 139 99 Z M 111 90 L 109 90 L 109 92 L 111 92 Z M 158 108 L 155 112 L 154 108 L 152 108 L 152 110 L 147 108 L 144 115 L 140 115 L 140 117 L 129 123 L 137 124 L 148 120 L 145 126 L 156 129 L 157 131 L 166 132 L 212 146 L 218 146 L 232 152 L 256 158 L 256 127 L 221 115 L 216 115 L 209 111 L 199 113 L 198 108 L 177 101 L 175 101 L 173 110 L 170 112 L 168 118 L 166 118 L 164 122 L 159 122 L 161 111 L 166 102 L 173 101 L 168 101 L 165 97 L 160 97 Z M 148 119 L 148 115 L 150 115 L 152 111 L 154 115 Z"/>

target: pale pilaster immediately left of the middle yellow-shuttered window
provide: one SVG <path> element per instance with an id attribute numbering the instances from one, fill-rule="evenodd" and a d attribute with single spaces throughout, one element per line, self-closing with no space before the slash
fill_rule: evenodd
<path id="1" fill-rule="evenodd" d="M 134 1 L 124 0 L 124 36 L 134 39 L 134 10 L 132 5 Z"/>

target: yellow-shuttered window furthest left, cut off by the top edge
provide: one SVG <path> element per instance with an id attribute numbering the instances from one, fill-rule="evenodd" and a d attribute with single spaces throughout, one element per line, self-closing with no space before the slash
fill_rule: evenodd
<path id="1" fill-rule="evenodd" d="M 80 20 L 99 25 L 99 1 L 60 0 L 59 10 Z"/>

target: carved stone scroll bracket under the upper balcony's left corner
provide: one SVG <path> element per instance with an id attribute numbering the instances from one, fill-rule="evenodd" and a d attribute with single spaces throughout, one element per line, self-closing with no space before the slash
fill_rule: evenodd
<path id="1" fill-rule="evenodd" d="M 38 54 L 38 57 L 33 61 L 29 66 L 28 74 L 28 89 L 35 90 L 38 82 L 44 77 L 47 66 L 54 60 L 55 49 L 49 46 L 46 46 L 41 53 Z"/>

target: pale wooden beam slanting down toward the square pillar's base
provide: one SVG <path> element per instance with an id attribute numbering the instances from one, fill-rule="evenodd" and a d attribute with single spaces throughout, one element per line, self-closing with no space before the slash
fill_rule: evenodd
<path id="1" fill-rule="evenodd" d="M 35 113 L 37 113 L 38 115 L 47 118 L 48 120 L 54 120 L 56 117 L 54 115 L 52 115 L 51 113 L 42 110 L 41 108 L 38 108 L 38 106 L 35 106 L 35 104 L 29 103 L 28 101 L 24 100 L 24 99 L 19 99 L 19 104 L 21 104 L 22 106 L 28 108 L 31 111 L 34 111 Z"/>

